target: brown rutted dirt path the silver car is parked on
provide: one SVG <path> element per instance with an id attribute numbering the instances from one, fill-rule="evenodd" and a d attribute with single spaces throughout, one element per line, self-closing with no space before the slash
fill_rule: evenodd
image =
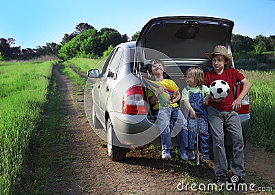
<path id="1" fill-rule="evenodd" d="M 162 159 L 129 157 L 113 162 L 106 154 L 104 143 L 89 126 L 85 116 L 83 94 L 72 95 L 74 85 L 54 68 L 58 86 L 65 98 L 70 125 L 68 152 L 74 157 L 69 165 L 71 174 L 58 179 L 53 194 L 186 194 L 179 192 L 177 184 L 183 174 L 170 171 Z M 275 155 L 248 144 L 245 164 L 250 170 L 275 185 Z M 256 161 L 257 160 L 257 161 Z"/>

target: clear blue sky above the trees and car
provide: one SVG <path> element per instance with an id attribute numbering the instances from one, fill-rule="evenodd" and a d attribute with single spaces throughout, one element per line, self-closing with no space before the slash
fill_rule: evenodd
<path id="1" fill-rule="evenodd" d="M 274 0 L 2 0 L 0 38 L 22 49 L 60 44 L 79 23 L 110 27 L 131 38 L 157 16 L 214 16 L 234 21 L 234 34 L 275 35 Z"/>

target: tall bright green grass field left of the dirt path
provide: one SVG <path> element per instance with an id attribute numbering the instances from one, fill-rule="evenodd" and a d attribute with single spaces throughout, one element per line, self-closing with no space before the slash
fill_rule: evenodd
<path id="1" fill-rule="evenodd" d="M 20 182 L 24 154 L 41 121 L 53 61 L 0 62 L 0 194 Z"/>

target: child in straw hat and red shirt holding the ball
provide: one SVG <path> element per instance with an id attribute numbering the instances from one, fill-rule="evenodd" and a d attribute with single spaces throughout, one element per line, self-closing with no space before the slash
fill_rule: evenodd
<path id="1" fill-rule="evenodd" d="M 231 170 L 234 176 L 238 176 L 239 182 L 245 175 L 243 136 L 241 122 L 236 111 L 241 108 L 241 100 L 248 93 L 251 83 L 238 70 L 232 68 L 232 55 L 228 54 L 223 45 L 217 45 L 212 53 L 206 54 L 212 60 L 214 70 L 204 74 L 205 85 L 210 86 L 214 80 L 225 80 L 230 86 L 230 93 L 224 100 L 214 100 L 207 95 L 204 104 L 207 106 L 209 130 L 213 140 L 214 172 L 219 177 L 217 184 L 228 182 L 228 161 L 225 156 L 224 131 L 228 131 L 232 139 Z M 234 100 L 233 87 L 236 81 L 243 84 L 243 91 Z"/>

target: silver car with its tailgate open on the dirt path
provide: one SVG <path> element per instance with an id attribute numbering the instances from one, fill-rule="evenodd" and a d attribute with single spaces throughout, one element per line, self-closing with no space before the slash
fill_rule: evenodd
<path id="1" fill-rule="evenodd" d="M 111 51 L 101 72 L 88 71 L 90 78 L 97 79 L 91 91 L 92 126 L 106 132 L 108 155 L 113 161 L 125 159 L 131 147 L 148 143 L 160 146 L 159 130 L 144 82 L 149 77 L 149 62 L 153 58 L 163 60 L 168 76 L 181 91 L 186 86 L 186 69 L 192 66 L 204 71 L 212 69 L 206 51 L 212 51 L 215 45 L 225 45 L 231 52 L 233 26 L 228 19 L 203 16 L 151 19 L 136 42 L 121 43 Z M 248 96 L 243 104 L 240 119 L 245 138 L 250 123 Z M 184 111 L 182 105 L 181 109 Z M 172 133 L 173 146 L 177 146 L 175 135 Z M 225 143 L 230 146 L 230 137 Z"/>

